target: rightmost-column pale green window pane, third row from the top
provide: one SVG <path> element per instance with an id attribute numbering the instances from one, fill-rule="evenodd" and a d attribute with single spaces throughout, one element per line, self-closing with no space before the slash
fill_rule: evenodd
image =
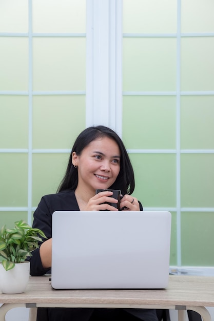
<path id="1" fill-rule="evenodd" d="M 181 97 L 181 148 L 214 149 L 214 96 Z"/>

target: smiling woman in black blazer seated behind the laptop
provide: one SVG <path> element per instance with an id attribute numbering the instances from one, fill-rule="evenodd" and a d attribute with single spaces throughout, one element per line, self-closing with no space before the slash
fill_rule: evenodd
<path id="1" fill-rule="evenodd" d="M 99 211 L 118 209 L 109 203 L 118 200 L 112 192 L 95 194 L 96 189 L 118 189 L 122 192 L 120 209 L 142 211 L 138 199 L 132 197 L 134 173 L 121 138 L 105 126 L 89 127 L 77 138 L 71 150 L 65 176 L 56 194 L 42 197 L 34 212 L 33 227 L 40 228 L 47 236 L 40 249 L 32 252 L 30 274 L 50 273 L 51 221 L 57 210 Z M 157 321 L 155 310 L 141 309 L 38 309 L 38 321 L 95 321 L 95 320 L 144 320 Z"/>

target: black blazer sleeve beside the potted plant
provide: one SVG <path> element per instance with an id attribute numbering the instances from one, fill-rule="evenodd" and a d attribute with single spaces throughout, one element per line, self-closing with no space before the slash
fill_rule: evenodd
<path id="1" fill-rule="evenodd" d="M 38 207 L 33 214 L 34 220 L 32 227 L 42 230 L 49 239 L 51 238 L 52 231 L 52 213 L 49 210 L 47 202 L 47 198 L 45 199 L 42 197 L 40 204 L 38 204 Z M 41 243 L 39 246 L 41 246 Z M 30 260 L 30 275 L 38 276 L 45 273 L 50 273 L 50 269 L 43 268 L 40 257 L 40 249 L 34 250 L 31 254 L 33 256 L 28 258 Z"/>

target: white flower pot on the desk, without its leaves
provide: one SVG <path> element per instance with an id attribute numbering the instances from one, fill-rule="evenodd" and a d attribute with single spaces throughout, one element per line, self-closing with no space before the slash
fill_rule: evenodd
<path id="1" fill-rule="evenodd" d="M 30 262 L 16 263 L 12 270 L 6 271 L 0 263 L 0 291 L 5 294 L 25 291 L 30 275 Z"/>

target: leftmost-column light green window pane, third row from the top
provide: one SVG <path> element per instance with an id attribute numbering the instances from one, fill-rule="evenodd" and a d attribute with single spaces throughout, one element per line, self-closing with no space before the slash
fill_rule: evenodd
<path id="1" fill-rule="evenodd" d="M 0 148 L 28 148 L 28 97 L 0 96 Z"/>

